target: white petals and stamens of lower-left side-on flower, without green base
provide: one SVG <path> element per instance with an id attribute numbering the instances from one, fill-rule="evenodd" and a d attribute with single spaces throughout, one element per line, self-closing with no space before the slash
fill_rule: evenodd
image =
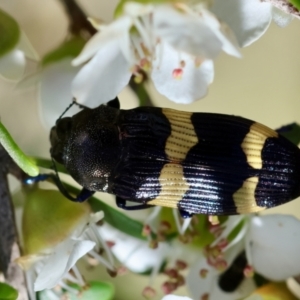
<path id="1" fill-rule="evenodd" d="M 100 247 L 108 250 L 99 236 L 95 224 L 103 217 L 103 212 L 98 212 L 91 214 L 88 219 L 83 218 L 77 224 L 75 231 L 53 248 L 43 249 L 39 253 L 23 256 L 18 260 L 18 263 L 27 269 L 26 275 L 32 299 L 35 299 L 33 290 L 52 289 L 58 284 L 66 287 L 64 279 L 84 286 L 85 281 L 75 264 L 87 253 L 99 259 L 111 271 L 115 271 L 112 259 L 106 261 L 95 252 Z M 74 275 L 69 274 L 71 269 L 74 271 Z"/>

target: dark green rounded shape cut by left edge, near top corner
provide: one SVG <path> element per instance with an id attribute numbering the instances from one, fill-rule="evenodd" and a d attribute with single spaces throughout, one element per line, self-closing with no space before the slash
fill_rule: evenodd
<path id="1" fill-rule="evenodd" d="M 0 9 L 0 57 L 11 51 L 20 38 L 18 23 Z"/>

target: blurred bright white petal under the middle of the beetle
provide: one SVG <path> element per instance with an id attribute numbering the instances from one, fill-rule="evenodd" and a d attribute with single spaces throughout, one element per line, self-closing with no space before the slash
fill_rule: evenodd
<path id="1" fill-rule="evenodd" d="M 160 268 L 170 248 L 166 243 L 159 243 L 157 249 L 149 248 L 149 243 L 122 233 L 104 224 L 100 228 L 101 236 L 114 243 L 111 248 L 116 258 L 129 270 L 143 273 L 153 268 Z"/>

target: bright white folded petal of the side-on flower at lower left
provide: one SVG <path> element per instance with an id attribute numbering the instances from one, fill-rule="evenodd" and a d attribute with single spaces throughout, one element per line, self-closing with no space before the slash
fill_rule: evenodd
<path id="1" fill-rule="evenodd" d="M 69 272 L 76 261 L 94 246 L 95 242 L 74 239 L 60 243 L 41 268 L 34 283 L 34 290 L 53 288 Z"/>

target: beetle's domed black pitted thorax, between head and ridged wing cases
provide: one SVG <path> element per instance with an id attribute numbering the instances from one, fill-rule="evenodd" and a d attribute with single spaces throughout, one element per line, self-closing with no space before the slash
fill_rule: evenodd
<path id="1" fill-rule="evenodd" d="M 119 162 L 117 127 L 92 123 L 77 126 L 64 151 L 64 165 L 78 183 L 92 191 L 109 191 L 110 176 Z"/>

